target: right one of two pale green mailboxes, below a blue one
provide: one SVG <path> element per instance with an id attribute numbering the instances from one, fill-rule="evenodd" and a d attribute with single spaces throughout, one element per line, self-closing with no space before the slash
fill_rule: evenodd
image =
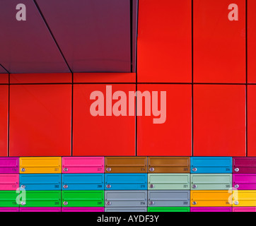
<path id="1" fill-rule="evenodd" d="M 191 174 L 191 190 L 228 190 L 232 174 Z"/>

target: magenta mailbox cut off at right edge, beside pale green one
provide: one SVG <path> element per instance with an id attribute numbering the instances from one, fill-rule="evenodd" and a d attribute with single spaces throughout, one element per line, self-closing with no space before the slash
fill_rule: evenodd
<path id="1" fill-rule="evenodd" d="M 256 174 L 233 174 L 233 187 L 238 190 L 256 190 Z"/>

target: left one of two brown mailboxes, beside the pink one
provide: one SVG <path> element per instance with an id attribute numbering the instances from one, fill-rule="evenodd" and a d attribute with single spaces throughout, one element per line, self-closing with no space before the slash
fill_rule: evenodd
<path id="1" fill-rule="evenodd" d="M 146 173 L 146 157 L 105 157 L 107 173 Z"/>

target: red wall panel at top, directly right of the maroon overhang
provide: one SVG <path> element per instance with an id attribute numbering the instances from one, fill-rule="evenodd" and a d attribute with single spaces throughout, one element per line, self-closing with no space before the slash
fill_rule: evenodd
<path id="1" fill-rule="evenodd" d="M 140 0 L 138 81 L 192 81 L 192 1 Z"/>

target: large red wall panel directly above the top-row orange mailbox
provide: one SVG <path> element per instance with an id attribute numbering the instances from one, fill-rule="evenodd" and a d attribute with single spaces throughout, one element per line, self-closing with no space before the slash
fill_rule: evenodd
<path id="1" fill-rule="evenodd" d="M 10 155 L 71 155 L 71 85 L 11 85 Z"/>

